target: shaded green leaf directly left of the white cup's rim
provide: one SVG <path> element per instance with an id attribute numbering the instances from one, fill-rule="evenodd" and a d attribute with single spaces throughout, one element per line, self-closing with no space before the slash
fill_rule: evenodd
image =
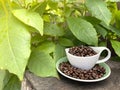
<path id="1" fill-rule="evenodd" d="M 55 61 L 58 61 L 62 57 L 65 57 L 65 47 L 56 44 L 54 52 Z"/>

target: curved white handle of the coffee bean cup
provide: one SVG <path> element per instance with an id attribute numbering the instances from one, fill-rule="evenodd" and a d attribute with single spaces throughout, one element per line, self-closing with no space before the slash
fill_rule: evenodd
<path id="1" fill-rule="evenodd" d="M 106 62 L 106 61 L 109 60 L 109 58 L 111 57 L 111 51 L 110 51 L 108 48 L 106 48 L 106 47 L 100 47 L 100 48 L 101 48 L 100 54 L 101 54 L 104 50 L 107 50 L 108 55 L 107 55 L 105 58 L 103 58 L 103 59 L 101 59 L 101 60 L 98 60 L 98 61 L 96 62 L 96 64 Z"/>

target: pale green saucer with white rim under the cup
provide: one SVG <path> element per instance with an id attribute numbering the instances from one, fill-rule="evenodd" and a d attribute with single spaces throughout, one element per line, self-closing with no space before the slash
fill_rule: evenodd
<path id="1" fill-rule="evenodd" d="M 99 78 L 99 79 L 94 79 L 94 80 L 83 80 L 83 79 L 73 78 L 73 77 L 70 77 L 70 76 L 64 74 L 64 73 L 59 69 L 59 64 L 62 63 L 62 62 L 67 62 L 67 61 L 68 61 L 68 60 L 67 60 L 66 57 L 63 57 L 63 58 L 59 59 L 59 60 L 57 61 L 57 63 L 56 63 L 56 69 L 57 69 L 57 71 L 58 71 L 61 75 L 65 76 L 65 77 L 67 77 L 67 78 L 69 78 L 69 79 L 75 80 L 75 81 L 80 81 L 80 82 L 98 82 L 98 81 L 102 81 L 102 80 L 108 78 L 108 77 L 110 76 L 110 74 L 111 74 L 111 69 L 110 69 L 110 67 L 109 67 L 106 63 L 100 63 L 99 65 L 102 66 L 102 67 L 104 67 L 105 70 L 106 70 L 106 74 L 105 74 L 103 77 L 101 77 L 101 78 Z"/>

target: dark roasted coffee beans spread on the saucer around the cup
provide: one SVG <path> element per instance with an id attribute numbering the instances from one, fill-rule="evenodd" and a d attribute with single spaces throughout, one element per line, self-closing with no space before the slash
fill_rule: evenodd
<path id="1" fill-rule="evenodd" d="M 94 80 L 103 77 L 106 73 L 104 67 L 96 64 L 90 70 L 82 70 L 73 67 L 69 62 L 62 62 L 59 65 L 59 69 L 66 75 L 83 80 Z"/>

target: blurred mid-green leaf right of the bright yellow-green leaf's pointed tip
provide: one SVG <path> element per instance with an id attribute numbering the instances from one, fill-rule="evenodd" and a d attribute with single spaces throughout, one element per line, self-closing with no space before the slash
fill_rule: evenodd
<path id="1" fill-rule="evenodd" d="M 64 30 L 56 24 L 45 23 L 44 34 L 50 36 L 63 36 Z"/>

